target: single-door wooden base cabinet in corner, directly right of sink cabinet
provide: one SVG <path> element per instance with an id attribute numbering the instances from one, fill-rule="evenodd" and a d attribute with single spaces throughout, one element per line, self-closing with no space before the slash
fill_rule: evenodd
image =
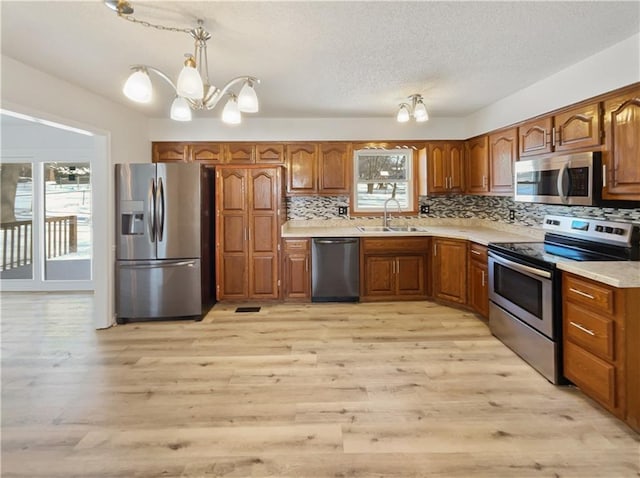
<path id="1" fill-rule="evenodd" d="M 433 239 L 433 296 L 456 304 L 467 303 L 467 241 Z"/>

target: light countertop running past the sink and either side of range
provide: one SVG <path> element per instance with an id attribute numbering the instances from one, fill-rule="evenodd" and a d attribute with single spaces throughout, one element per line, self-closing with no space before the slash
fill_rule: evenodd
<path id="1" fill-rule="evenodd" d="M 463 239 L 487 245 L 489 242 L 540 242 L 541 228 L 513 226 L 483 219 L 411 219 L 394 220 L 392 225 L 411 225 L 420 231 L 363 232 L 357 226 L 379 226 L 375 220 L 309 220 L 288 221 L 282 226 L 282 237 L 405 237 L 433 236 Z M 593 279 L 613 287 L 640 288 L 640 261 L 576 262 L 559 261 L 560 270 Z"/>

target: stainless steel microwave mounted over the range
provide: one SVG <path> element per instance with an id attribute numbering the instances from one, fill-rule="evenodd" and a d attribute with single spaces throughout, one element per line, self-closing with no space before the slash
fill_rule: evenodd
<path id="1" fill-rule="evenodd" d="M 602 203 L 599 151 L 516 161 L 516 201 L 596 206 Z"/>

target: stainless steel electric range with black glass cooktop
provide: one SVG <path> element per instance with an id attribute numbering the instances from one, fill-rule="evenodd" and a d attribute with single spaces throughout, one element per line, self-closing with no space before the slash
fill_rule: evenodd
<path id="1" fill-rule="evenodd" d="M 546 216 L 544 242 L 489 244 L 489 327 L 554 384 L 562 376 L 560 261 L 640 260 L 640 225 Z"/>

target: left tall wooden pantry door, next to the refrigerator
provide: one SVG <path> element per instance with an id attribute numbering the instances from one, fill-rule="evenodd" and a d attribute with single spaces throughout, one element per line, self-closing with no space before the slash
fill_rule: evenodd
<path id="1" fill-rule="evenodd" d="M 245 299 L 249 295 L 247 173 L 242 169 L 222 169 L 217 178 L 218 298 Z"/>

